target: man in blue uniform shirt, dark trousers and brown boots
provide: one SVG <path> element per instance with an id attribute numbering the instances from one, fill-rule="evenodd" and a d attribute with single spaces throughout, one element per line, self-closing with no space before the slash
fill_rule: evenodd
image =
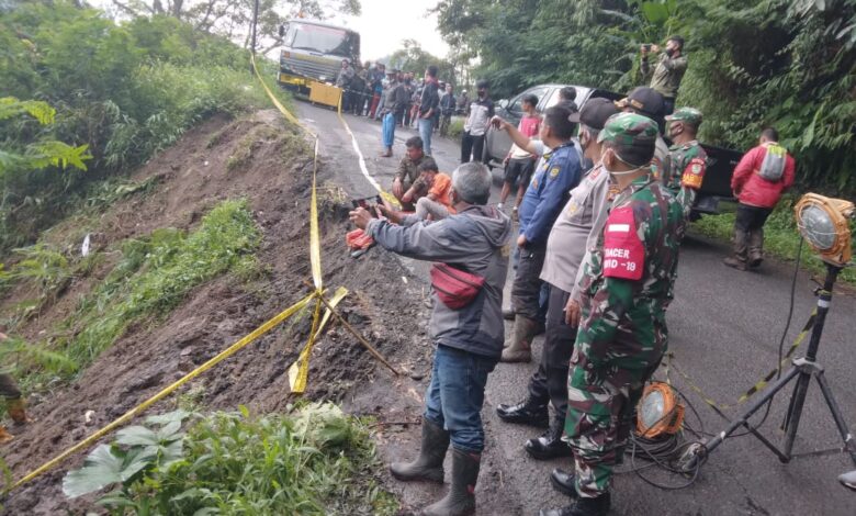
<path id="1" fill-rule="evenodd" d="M 561 105 L 547 110 L 541 125 L 541 142 L 550 148 L 536 170 L 520 204 L 520 227 L 517 246 L 520 260 L 511 288 L 511 305 L 515 311 L 515 329 L 511 343 L 503 350 L 504 362 L 532 360 L 532 338 L 538 332 L 541 305 L 539 298 L 542 282 L 541 268 L 547 254 L 547 237 L 567 200 L 568 192 L 579 183 L 582 167 L 579 152 L 571 139 L 576 125 L 568 120 L 571 111 Z M 495 119 L 497 120 L 497 119 Z M 497 120 L 513 139 L 525 143 L 519 132 L 508 122 Z M 533 142 L 525 150 L 538 154 Z"/>

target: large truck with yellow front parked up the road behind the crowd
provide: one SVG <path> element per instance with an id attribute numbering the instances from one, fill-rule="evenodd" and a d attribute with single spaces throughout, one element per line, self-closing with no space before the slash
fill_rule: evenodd
<path id="1" fill-rule="evenodd" d="M 280 25 L 282 49 L 277 82 L 311 94 L 313 83 L 334 83 L 342 59 L 360 60 L 360 34 L 313 20 L 290 20 Z"/>

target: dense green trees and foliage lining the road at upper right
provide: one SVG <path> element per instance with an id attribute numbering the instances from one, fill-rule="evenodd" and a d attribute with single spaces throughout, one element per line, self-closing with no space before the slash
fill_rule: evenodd
<path id="1" fill-rule="evenodd" d="M 628 91 L 641 44 L 685 37 L 677 102 L 701 139 L 745 149 L 774 125 L 802 187 L 856 193 L 856 0 L 442 0 L 450 46 L 496 98 L 543 82 Z"/>

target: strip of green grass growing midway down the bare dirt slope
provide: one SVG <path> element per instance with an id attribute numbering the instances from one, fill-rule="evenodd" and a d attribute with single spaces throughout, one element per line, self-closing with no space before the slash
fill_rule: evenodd
<path id="1" fill-rule="evenodd" d="M 190 234 L 160 228 L 148 237 L 124 240 L 113 270 L 60 324 L 63 336 L 44 344 L 74 364 L 71 372 L 79 371 L 128 327 L 166 316 L 195 287 L 230 270 L 247 278 L 263 273 L 254 256 L 260 240 L 246 201 L 219 203 Z M 67 367 L 44 366 L 23 361 L 15 367 L 26 391 L 71 377 Z"/>

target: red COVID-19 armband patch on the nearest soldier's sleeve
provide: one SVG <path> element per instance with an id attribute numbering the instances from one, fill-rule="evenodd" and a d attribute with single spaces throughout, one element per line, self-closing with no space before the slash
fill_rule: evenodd
<path id="1" fill-rule="evenodd" d="M 635 231 L 633 209 L 612 210 L 604 233 L 604 277 L 639 280 L 645 265 L 645 246 Z"/>

